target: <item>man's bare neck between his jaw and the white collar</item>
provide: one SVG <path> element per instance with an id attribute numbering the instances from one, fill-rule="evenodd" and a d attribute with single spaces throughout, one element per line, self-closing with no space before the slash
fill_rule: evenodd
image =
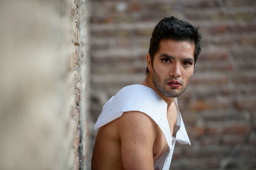
<path id="1" fill-rule="evenodd" d="M 141 85 L 145 85 L 147 87 L 150 87 L 151 89 L 155 90 L 157 94 L 168 104 L 168 108 L 171 106 L 172 102 L 174 101 L 174 97 L 166 97 L 164 96 L 159 90 L 156 88 L 152 81 L 152 76 L 150 73 L 147 74 L 147 77 L 145 80 L 141 83 Z"/>

